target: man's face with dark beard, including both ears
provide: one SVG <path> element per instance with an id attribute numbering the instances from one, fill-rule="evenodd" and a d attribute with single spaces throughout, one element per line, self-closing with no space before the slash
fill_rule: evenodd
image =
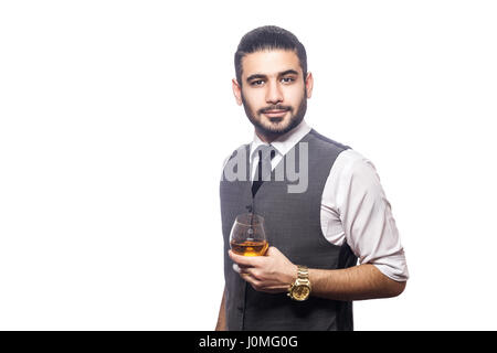
<path id="1" fill-rule="evenodd" d="M 308 74 L 307 83 L 304 82 L 295 52 L 251 53 L 242 58 L 242 87 L 233 81 L 233 92 L 257 132 L 275 137 L 304 119 L 313 77 Z"/>

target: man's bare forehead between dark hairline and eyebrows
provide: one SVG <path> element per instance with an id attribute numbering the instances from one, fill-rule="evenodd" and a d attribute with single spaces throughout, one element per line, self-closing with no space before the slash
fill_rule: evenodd
<path id="1" fill-rule="evenodd" d="M 242 58 L 242 76 L 253 74 L 275 75 L 295 69 L 302 74 L 298 56 L 294 51 L 265 50 L 246 54 Z"/>

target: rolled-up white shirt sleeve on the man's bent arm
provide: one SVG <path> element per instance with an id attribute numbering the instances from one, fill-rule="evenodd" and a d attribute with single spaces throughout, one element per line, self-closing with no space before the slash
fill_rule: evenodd
<path id="1" fill-rule="evenodd" d="M 374 265 L 393 280 L 408 280 L 399 231 L 372 162 L 351 151 L 335 176 L 337 213 L 359 263 Z"/>

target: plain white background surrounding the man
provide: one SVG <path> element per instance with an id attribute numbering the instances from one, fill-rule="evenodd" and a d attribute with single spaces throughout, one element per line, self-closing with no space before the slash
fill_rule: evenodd
<path id="1" fill-rule="evenodd" d="M 173 4 L 172 4 L 173 3 Z M 306 120 L 373 161 L 411 279 L 357 330 L 495 330 L 494 1 L 0 2 L 0 329 L 211 330 L 241 36 L 281 25 Z"/>

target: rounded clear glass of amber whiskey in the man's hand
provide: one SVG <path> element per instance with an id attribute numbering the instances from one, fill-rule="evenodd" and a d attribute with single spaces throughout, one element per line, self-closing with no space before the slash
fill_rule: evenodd
<path id="1" fill-rule="evenodd" d="M 239 214 L 231 228 L 230 245 L 235 254 L 263 256 L 269 246 L 264 218 L 254 213 Z"/>

